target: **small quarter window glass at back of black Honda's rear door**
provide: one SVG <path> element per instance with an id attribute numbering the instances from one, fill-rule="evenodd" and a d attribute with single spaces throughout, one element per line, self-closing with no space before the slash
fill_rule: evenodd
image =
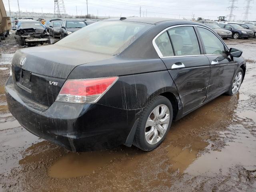
<path id="1" fill-rule="evenodd" d="M 164 57 L 174 56 L 172 44 L 167 32 L 162 33 L 158 38 L 156 38 L 155 43 Z"/>

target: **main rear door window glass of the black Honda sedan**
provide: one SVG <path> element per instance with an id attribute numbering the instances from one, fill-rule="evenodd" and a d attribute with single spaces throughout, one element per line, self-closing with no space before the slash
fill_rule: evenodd
<path id="1" fill-rule="evenodd" d="M 201 54 L 196 32 L 192 26 L 171 28 L 168 32 L 176 56 Z"/>

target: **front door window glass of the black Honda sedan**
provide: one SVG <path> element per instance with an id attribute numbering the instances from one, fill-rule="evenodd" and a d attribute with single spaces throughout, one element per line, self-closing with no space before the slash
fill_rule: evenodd
<path id="1" fill-rule="evenodd" d="M 198 31 L 204 43 L 206 54 L 225 54 L 224 44 L 213 32 L 202 27 L 198 27 Z"/>

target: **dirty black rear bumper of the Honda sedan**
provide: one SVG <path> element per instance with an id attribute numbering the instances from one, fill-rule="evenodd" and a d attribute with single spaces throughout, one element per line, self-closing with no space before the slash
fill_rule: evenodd
<path id="1" fill-rule="evenodd" d="M 5 86 L 11 114 L 32 134 L 79 152 L 126 144 L 134 126 L 134 110 L 102 104 L 54 102 L 49 108 L 22 96 L 12 78 Z M 130 144 L 131 145 L 131 144 Z"/>

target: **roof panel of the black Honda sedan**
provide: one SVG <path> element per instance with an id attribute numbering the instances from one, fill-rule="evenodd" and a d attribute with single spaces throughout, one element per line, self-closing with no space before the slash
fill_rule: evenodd
<path id="1" fill-rule="evenodd" d="M 140 23 L 147 23 L 147 24 L 160 24 L 163 22 L 170 22 L 170 24 L 177 23 L 177 21 L 180 22 L 180 24 L 197 24 L 202 25 L 202 23 L 199 22 L 192 22 L 188 20 L 178 20 L 178 19 L 170 19 L 170 18 L 150 18 L 150 17 L 121 17 L 121 18 L 113 18 L 113 19 L 106 19 L 103 21 L 130 21 L 130 22 L 140 22 Z"/>

